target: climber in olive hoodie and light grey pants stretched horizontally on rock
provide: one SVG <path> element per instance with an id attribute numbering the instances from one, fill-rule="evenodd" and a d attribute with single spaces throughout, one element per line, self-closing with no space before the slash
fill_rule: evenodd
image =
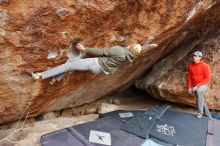
<path id="1" fill-rule="evenodd" d="M 156 47 L 157 44 L 149 44 L 149 46 Z M 142 50 L 140 44 L 131 44 L 127 47 L 113 46 L 104 49 L 85 48 L 80 39 L 73 39 L 70 48 L 92 55 L 93 58 L 72 57 L 66 63 L 46 71 L 31 72 L 32 78 L 34 80 L 50 77 L 59 78 L 63 73 L 74 70 L 91 71 L 95 74 L 102 72 L 105 74 L 114 74 L 120 64 L 126 61 L 132 62 Z"/>

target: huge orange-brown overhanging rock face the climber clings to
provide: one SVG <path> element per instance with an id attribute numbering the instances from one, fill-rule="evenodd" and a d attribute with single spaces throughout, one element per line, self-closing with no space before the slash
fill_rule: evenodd
<path id="1" fill-rule="evenodd" d="M 218 6 L 209 0 L 0 2 L 0 123 L 89 103 L 129 86 L 181 43 L 214 31 Z M 67 73 L 50 86 L 25 74 L 65 62 L 73 37 L 101 48 L 144 43 L 150 36 L 159 46 L 123 64 L 115 75 Z M 51 50 L 57 55 L 47 59 Z"/>

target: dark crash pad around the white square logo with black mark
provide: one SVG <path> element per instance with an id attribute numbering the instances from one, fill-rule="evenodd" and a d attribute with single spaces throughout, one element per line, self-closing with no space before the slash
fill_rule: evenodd
<path id="1" fill-rule="evenodd" d="M 111 146 L 140 146 L 144 139 L 121 130 L 122 124 L 122 121 L 106 116 L 96 121 L 43 135 L 41 144 L 42 146 L 103 146 L 89 142 L 90 132 L 100 131 L 110 134 Z"/>

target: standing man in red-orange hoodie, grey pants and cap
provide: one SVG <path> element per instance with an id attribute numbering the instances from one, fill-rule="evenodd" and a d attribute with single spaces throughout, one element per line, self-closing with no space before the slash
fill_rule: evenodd
<path id="1" fill-rule="evenodd" d="M 205 112 L 209 118 L 212 118 L 204 95 L 210 80 L 210 67 L 202 61 L 202 56 L 203 54 L 200 51 L 193 52 L 193 63 L 189 64 L 188 68 L 188 89 L 190 94 L 194 92 L 197 97 L 199 112 L 196 117 L 202 118 Z"/>

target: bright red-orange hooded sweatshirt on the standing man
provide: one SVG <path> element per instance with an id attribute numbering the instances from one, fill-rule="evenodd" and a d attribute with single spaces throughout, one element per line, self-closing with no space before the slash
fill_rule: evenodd
<path id="1" fill-rule="evenodd" d="M 188 68 L 188 88 L 208 84 L 210 80 L 210 67 L 203 61 L 191 63 Z"/>

